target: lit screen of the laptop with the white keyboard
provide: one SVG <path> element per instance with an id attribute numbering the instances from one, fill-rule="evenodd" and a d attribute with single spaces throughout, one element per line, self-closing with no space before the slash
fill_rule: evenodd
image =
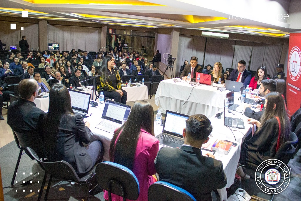
<path id="1" fill-rule="evenodd" d="M 101 118 L 121 124 L 123 118 L 128 118 L 130 110 L 129 105 L 107 100 Z"/>

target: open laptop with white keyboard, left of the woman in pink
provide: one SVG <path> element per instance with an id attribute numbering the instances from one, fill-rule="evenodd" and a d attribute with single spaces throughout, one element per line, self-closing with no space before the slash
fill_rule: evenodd
<path id="1" fill-rule="evenodd" d="M 128 118 L 131 106 L 119 102 L 107 100 L 104 105 L 103 119 L 96 128 L 113 133 L 116 128 L 121 127 L 123 118 Z"/>

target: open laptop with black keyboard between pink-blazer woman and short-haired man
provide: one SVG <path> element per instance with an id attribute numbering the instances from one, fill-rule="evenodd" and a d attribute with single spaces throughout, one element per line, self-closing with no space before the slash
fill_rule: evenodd
<path id="1" fill-rule="evenodd" d="M 183 128 L 186 127 L 188 115 L 166 110 L 163 132 L 156 138 L 161 145 L 172 148 L 181 147 L 184 143 Z"/>

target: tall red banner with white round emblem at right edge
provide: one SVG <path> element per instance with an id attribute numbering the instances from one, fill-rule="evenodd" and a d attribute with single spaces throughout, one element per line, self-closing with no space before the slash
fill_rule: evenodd
<path id="1" fill-rule="evenodd" d="M 287 112 L 292 116 L 301 107 L 301 33 L 290 33 L 287 63 Z"/>

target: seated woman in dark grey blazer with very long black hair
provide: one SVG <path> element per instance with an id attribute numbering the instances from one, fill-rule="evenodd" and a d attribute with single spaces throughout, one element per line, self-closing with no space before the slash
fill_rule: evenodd
<path id="1" fill-rule="evenodd" d="M 72 165 L 79 177 L 88 174 L 96 163 L 101 162 L 102 143 L 98 140 L 90 143 L 90 123 L 74 114 L 70 94 L 64 85 L 51 87 L 43 124 L 45 154 L 49 162 L 64 160 Z M 90 144 L 85 147 L 83 143 Z"/>

